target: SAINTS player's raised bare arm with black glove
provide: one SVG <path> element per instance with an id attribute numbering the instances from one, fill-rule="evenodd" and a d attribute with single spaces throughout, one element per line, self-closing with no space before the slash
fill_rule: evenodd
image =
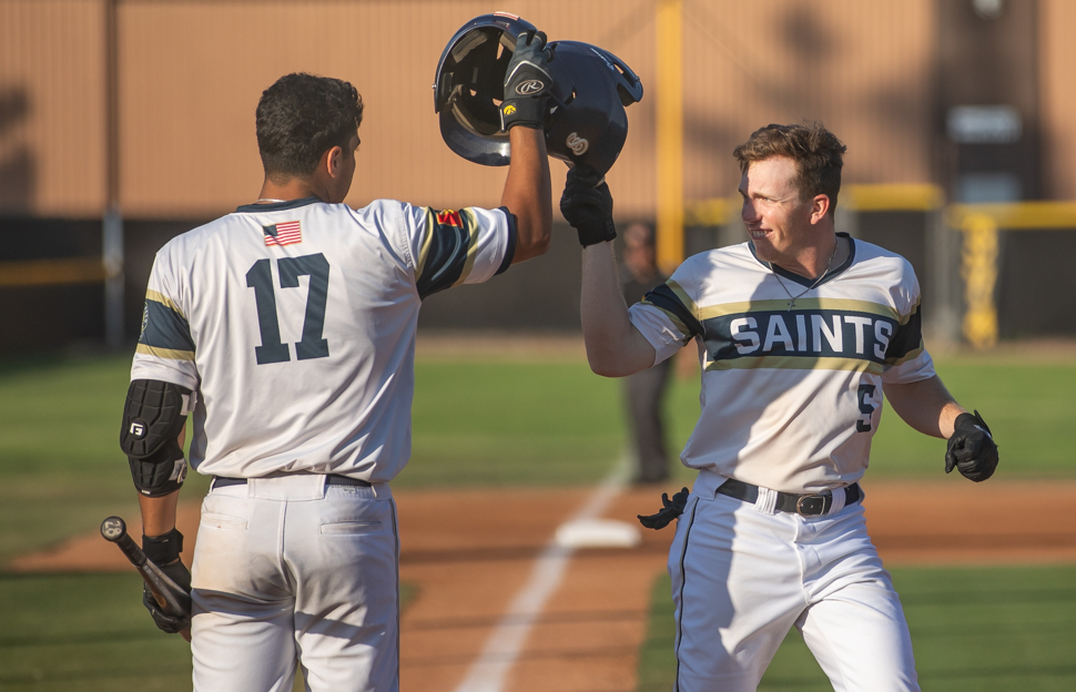
<path id="1" fill-rule="evenodd" d="M 654 364 L 656 352 L 628 318 L 620 294 L 612 240 L 612 194 L 593 169 L 568 172 L 560 212 L 578 232 L 582 245 L 580 318 L 590 369 L 605 377 L 623 377 Z"/>

